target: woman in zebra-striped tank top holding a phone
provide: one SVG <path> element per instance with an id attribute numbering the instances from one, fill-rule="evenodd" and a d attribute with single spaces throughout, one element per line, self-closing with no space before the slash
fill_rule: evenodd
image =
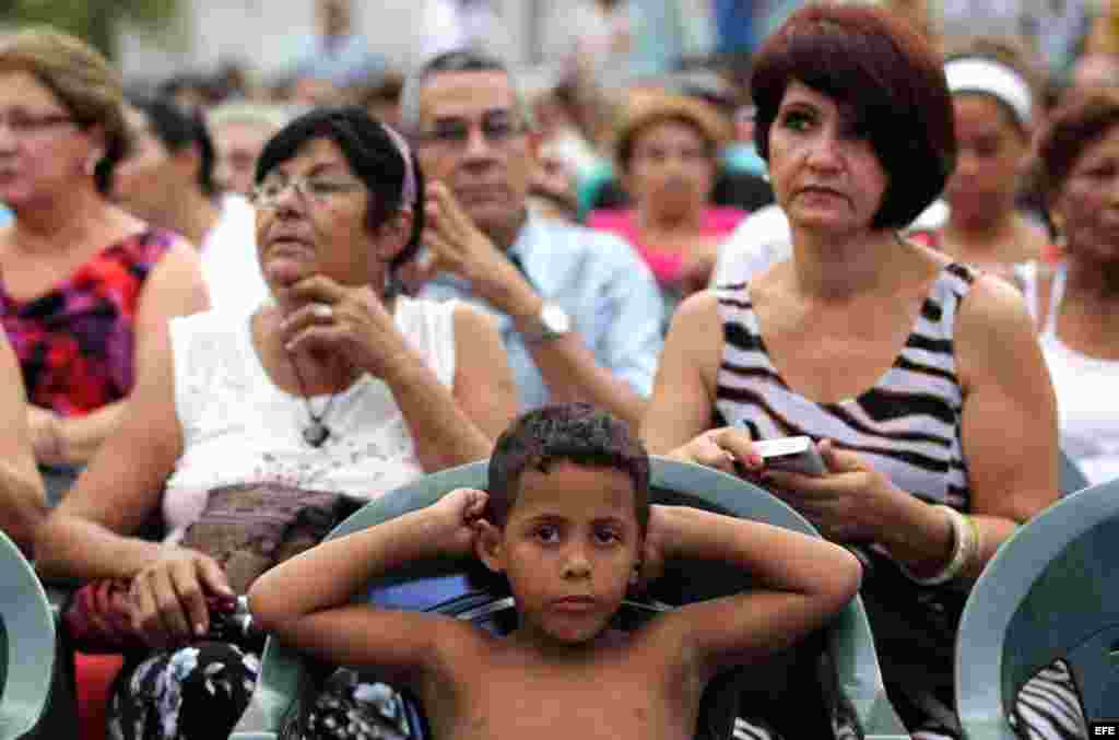
<path id="1" fill-rule="evenodd" d="M 759 51 L 752 93 L 793 256 L 680 306 L 642 434 L 656 453 L 745 468 L 858 547 L 892 703 L 914 738 L 958 738 L 962 602 L 1056 496 L 1029 315 L 1008 283 L 897 235 L 956 156 L 939 57 L 912 29 L 873 6 L 808 6 Z M 750 444 L 797 434 L 827 475 L 767 471 Z"/>

